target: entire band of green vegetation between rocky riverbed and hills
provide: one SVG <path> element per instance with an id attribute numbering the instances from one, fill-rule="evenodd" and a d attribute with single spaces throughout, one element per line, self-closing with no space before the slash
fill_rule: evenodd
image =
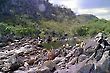
<path id="1" fill-rule="evenodd" d="M 69 36 L 94 36 L 98 32 L 110 34 L 110 21 L 104 19 L 95 19 L 85 24 L 78 24 L 72 20 L 68 21 L 54 21 L 54 20 L 39 20 L 22 19 L 21 21 L 0 23 L 0 34 L 14 34 L 16 36 L 36 36 L 42 38 L 51 35 L 51 32 L 56 32 L 61 35 L 68 33 Z M 46 34 L 48 33 L 48 34 Z"/>

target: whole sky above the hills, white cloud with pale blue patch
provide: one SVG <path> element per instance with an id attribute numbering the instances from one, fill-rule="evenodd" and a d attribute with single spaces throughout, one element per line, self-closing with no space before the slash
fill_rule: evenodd
<path id="1" fill-rule="evenodd" d="M 50 3 L 64 5 L 76 14 L 93 14 L 110 20 L 110 0 L 49 0 Z"/>

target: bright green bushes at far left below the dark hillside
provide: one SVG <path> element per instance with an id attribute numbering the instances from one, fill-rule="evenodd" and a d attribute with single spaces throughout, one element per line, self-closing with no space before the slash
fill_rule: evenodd
<path id="1" fill-rule="evenodd" d="M 14 34 L 15 36 L 35 36 L 36 30 L 34 27 L 10 26 L 5 23 L 0 23 L 0 34 L 5 36 Z"/>

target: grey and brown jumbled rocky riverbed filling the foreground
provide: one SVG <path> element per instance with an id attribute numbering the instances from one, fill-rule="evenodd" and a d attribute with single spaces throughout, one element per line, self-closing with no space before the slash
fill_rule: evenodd
<path id="1" fill-rule="evenodd" d="M 66 45 L 52 50 L 38 43 L 38 39 L 14 40 L 0 48 L 0 73 L 110 73 L 109 51 L 99 49 L 94 58 L 93 40 L 83 48 Z"/>

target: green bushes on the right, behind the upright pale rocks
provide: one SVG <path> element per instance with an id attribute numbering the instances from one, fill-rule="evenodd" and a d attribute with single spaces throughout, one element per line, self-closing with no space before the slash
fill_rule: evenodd
<path id="1" fill-rule="evenodd" d="M 76 29 L 80 36 L 94 36 L 98 32 L 103 32 L 107 35 L 110 34 L 110 21 L 104 19 L 92 20 Z"/>

